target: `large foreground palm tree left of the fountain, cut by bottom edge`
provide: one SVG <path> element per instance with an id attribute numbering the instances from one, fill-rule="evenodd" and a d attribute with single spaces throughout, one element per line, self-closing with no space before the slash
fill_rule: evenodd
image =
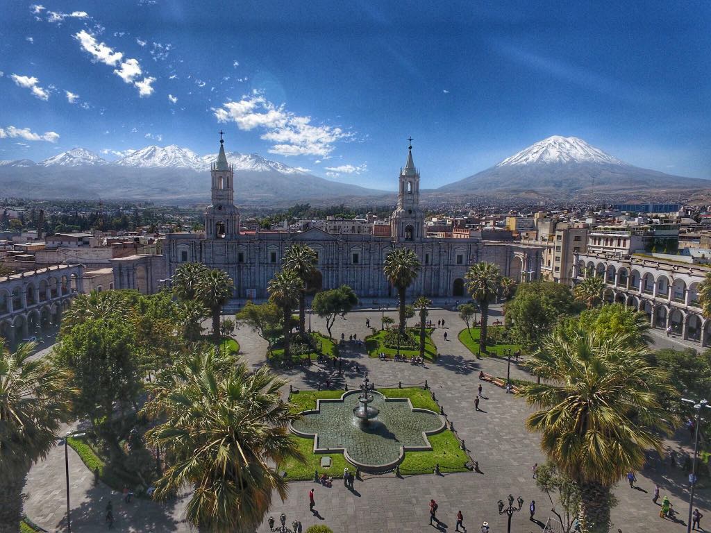
<path id="1" fill-rule="evenodd" d="M 248 372 L 211 352 L 193 355 L 149 385 L 144 410 L 161 423 L 147 434 L 169 464 L 154 497 L 193 493 L 186 519 L 201 531 L 254 532 L 276 492 L 287 496 L 278 465 L 303 461 L 287 424 L 299 415 L 281 399 L 287 382 L 268 367 Z"/>

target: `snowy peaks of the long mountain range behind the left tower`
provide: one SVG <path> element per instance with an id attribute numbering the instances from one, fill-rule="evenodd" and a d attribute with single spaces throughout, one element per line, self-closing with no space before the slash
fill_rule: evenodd
<path id="1" fill-rule="evenodd" d="M 281 174 L 306 174 L 299 168 L 293 168 L 278 161 L 271 161 L 259 154 L 240 154 L 228 152 L 225 154 L 232 163 L 235 171 L 269 172 L 277 171 Z M 130 168 L 191 168 L 193 171 L 208 171 L 210 164 L 214 163 L 218 154 L 200 156 L 189 148 L 181 148 L 175 144 L 170 146 L 146 146 L 140 150 L 132 151 L 116 161 L 107 161 L 92 151 L 75 148 L 62 152 L 56 156 L 34 163 L 29 159 L 18 161 L 0 161 L 0 166 L 125 166 Z"/>

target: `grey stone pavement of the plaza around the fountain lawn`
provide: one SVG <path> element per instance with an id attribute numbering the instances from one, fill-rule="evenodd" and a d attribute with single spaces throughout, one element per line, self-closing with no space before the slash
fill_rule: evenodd
<path id="1" fill-rule="evenodd" d="M 491 321 L 500 318 L 500 309 L 494 308 Z M 388 316 L 395 318 L 395 311 L 388 311 Z M 333 326 L 334 337 L 341 333 L 358 338 L 365 338 L 369 333 L 365 328 L 365 319 L 370 318 L 371 325 L 380 325 L 380 311 L 359 311 L 338 319 Z M 416 475 L 396 478 L 395 475 L 365 476 L 363 481 L 356 481 L 353 492 L 346 490 L 341 483 L 333 488 L 324 488 L 314 483 L 299 482 L 289 484 L 289 497 L 285 502 L 277 500 L 272 507 L 274 517 L 286 513 L 288 523 L 292 519 L 302 522 L 304 530 L 311 524 L 327 524 L 336 533 L 352 532 L 427 532 L 434 529 L 429 525 L 427 502 L 434 498 L 439 503 L 437 516 L 442 520 L 440 531 L 454 531 L 457 510 L 464 513 L 464 523 L 469 531 L 479 531 L 481 522 L 491 524 L 492 533 L 506 531 L 506 517 L 498 515 L 496 502 L 506 500 L 508 494 L 519 495 L 525 499 L 525 507 L 515 513 L 512 531 L 516 533 L 537 532 L 549 517 L 550 503 L 545 495 L 535 488 L 531 466 L 543 461 L 539 451 L 537 435 L 525 430 L 523 421 L 530 413 L 530 408 L 522 399 L 506 394 L 502 389 L 491 384 L 483 385 L 481 412 L 474 411 L 474 395 L 479 385 L 479 370 L 494 375 L 506 376 L 506 360 L 497 358 L 477 359 L 459 343 L 456 336 L 464 324 L 456 313 L 432 310 L 429 318 L 437 323 L 444 318 L 446 328 L 434 331 L 442 357 L 437 363 L 428 363 L 424 368 L 406 363 L 369 359 L 364 352 L 343 350 L 343 357 L 356 360 L 359 365 L 368 368 L 370 379 L 375 384 L 392 385 L 402 381 L 419 383 L 427 379 L 430 387 L 444 408 L 445 413 L 454 423 L 454 429 L 464 438 L 466 447 L 476 461 L 479 461 L 481 473 L 456 473 L 447 475 Z M 308 318 L 307 318 L 308 321 Z M 311 317 L 311 327 L 326 331 L 322 321 Z M 448 340 L 444 340 L 444 332 Z M 264 364 L 266 343 L 251 333 L 247 328 L 240 328 L 235 334 L 245 360 L 257 367 Z M 316 387 L 324 383 L 332 369 L 313 365 L 308 369 L 277 370 L 289 379 L 297 388 Z M 526 377 L 515 363 L 511 364 L 512 377 Z M 363 375 L 346 372 L 350 384 L 358 384 Z M 668 441 L 668 446 L 677 451 L 687 452 L 688 434 L 680 434 L 678 440 Z M 114 529 L 119 532 L 187 532 L 190 528 L 184 522 L 183 498 L 171 505 L 158 505 L 145 500 L 134 500 L 124 504 L 121 495 L 112 493 L 105 485 L 95 487 L 93 478 L 87 472 L 80 459 L 69 451 L 70 491 L 72 501 L 72 530 L 74 532 L 95 532 L 102 529 L 105 502 L 111 499 L 117 521 Z M 38 524 L 49 531 L 64 530 L 65 489 L 64 489 L 64 450 L 57 447 L 50 452 L 46 460 L 33 467 L 26 485 L 26 513 Z M 637 474 L 638 488 L 629 488 L 620 483 L 615 495 L 619 500 L 613 512 L 614 527 L 622 532 L 683 532 L 685 531 L 688 512 L 688 490 L 685 479 L 688 473 L 678 468 L 664 467 L 660 463 Z M 662 495 L 669 495 L 678 511 L 679 522 L 671 522 L 658 517 L 659 507 L 651 502 L 653 483 L 661 485 Z M 316 489 L 316 511 L 309 512 L 308 492 Z M 700 492 L 700 494 L 699 494 Z M 707 517 L 711 517 L 710 492 L 697 492 L 697 506 Z M 527 512 L 530 500 L 536 500 L 538 512 L 536 519 L 529 520 Z M 259 532 L 267 532 L 262 524 Z"/>

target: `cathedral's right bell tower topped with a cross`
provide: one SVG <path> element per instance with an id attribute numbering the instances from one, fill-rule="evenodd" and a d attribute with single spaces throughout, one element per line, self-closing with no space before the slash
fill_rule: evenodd
<path id="1" fill-rule="evenodd" d="M 412 162 L 412 141 L 407 139 L 407 163 L 400 169 L 397 207 L 390 218 L 390 235 L 396 241 L 419 241 L 424 237 L 424 213 L 419 208 L 419 172 Z"/>

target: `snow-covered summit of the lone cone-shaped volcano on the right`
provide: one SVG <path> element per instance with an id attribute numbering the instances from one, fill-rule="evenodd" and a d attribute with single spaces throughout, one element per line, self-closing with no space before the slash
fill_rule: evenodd
<path id="1" fill-rule="evenodd" d="M 602 163 L 610 165 L 625 165 L 616 157 L 605 154 L 604 151 L 590 146 L 577 137 L 562 137 L 554 135 L 528 146 L 518 154 L 510 156 L 498 167 L 507 165 L 528 165 L 531 163 Z"/>

